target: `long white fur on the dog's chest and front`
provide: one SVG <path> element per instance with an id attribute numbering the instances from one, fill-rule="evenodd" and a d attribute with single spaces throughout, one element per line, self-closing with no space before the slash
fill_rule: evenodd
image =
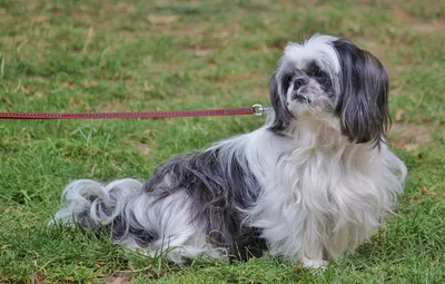
<path id="1" fill-rule="evenodd" d="M 307 135 L 299 145 L 257 140 L 261 145 L 254 148 L 268 155 L 250 155 L 265 185 L 250 216 L 274 254 L 301 259 L 320 251 L 313 248 L 323 247 L 324 257 L 353 249 L 370 236 L 402 190 L 388 169 L 397 160 L 386 146 L 338 146 L 336 137 L 320 137 Z"/>

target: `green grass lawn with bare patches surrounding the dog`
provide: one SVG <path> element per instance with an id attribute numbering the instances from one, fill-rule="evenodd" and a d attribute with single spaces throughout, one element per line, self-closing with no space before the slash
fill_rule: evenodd
<path id="1" fill-rule="evenodd" d="M 445 283 L 444 3 L 148 2 L 1 0 L 0 111 L 267 105 L 287 41 L 347 36 L 390 72 L 389 143 L 409 170 L 398 215 L 318 275 L 276 259 L 170 265 L 105 236 L 48 228 L 61 188 L 83 177 L 146 178 L 160 160 L 263 118 L 4 120 L 0 283 Z"/>

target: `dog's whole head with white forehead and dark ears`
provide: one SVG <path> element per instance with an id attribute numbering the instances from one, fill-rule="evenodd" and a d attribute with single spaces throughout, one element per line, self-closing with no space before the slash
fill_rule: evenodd
<path id="1" fill-rule="evenodd" d="M 290 42 L 270 81 L 275 120 L 285 135 L 306 117 L 336 119 L 354 143 L 375 143 L 389 124 L 388 76 L 376 57 L 346 39 L 316 35 Z"/>

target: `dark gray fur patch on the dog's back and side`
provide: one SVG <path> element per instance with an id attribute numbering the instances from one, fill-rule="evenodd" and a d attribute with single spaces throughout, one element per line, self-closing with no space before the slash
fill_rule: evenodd
<path id="1" fill-rule="evenodd" d="M 158 200 L 186 190 L 191 200 L 192 222 L 206 225 L 210 243 L 226 248 L 236 258 L 260 256 L 266 248 L 259 229 L 244 224 L 243 209 L 258 198 L 259 184 L 248 170 L 247 160 L 224 148 L 177 156 L 160 165 L 147 180 L 144 192 Z M 159 187 L 166 176 L 171 185 Z"/>

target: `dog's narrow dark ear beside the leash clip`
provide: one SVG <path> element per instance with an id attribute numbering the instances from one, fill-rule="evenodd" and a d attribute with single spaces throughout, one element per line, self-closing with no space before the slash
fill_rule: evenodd
<path id="1" fill-rule="evenodd" d="M 269 84 L 270 102 L 274 108 L 274 121 L 268 129 L 275 134 L 284 135 L 291 119 L 291 114 L 287 109 L 285 97 L 289 85 L 287 78 L 279 79 L 277 77 L 277 72 L 274 72 Z"/>

